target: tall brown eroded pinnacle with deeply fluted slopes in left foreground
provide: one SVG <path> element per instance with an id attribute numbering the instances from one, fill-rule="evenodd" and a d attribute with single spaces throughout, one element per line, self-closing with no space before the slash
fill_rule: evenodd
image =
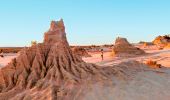
<path id="1" fill-rule="evenodd" d="M 70 100 L 76 93 L 70 88 L 85 80 L 104 79 L 101 73 L 98 66 L 72 54 L 63 20 L 52 21 L 43 43 L 23 49 L 1 68 L 0 100 L 60 100 L 60 96 Z"/>

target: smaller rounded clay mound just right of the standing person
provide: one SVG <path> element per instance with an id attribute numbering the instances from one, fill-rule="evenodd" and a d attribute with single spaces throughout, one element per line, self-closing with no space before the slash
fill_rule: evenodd
<path id="1" fill-rule="evenodd" d="M 115 55 L 141 55 L 145 52 L 131 45 L 126 38 L 118 37 L 113 48 Z"/>

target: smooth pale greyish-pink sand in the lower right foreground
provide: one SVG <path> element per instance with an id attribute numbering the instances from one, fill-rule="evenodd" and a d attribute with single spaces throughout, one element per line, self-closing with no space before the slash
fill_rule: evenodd
<path id="1" fill-rule="evenodd" d="M 152 71 L 139 72 L 133 80 L 125 82 L 113 78 L 113 83 L 112 86 L 95 84 L 83 100 L 169 100 L 170 98 L 170 71 L 161 74 Z"/>

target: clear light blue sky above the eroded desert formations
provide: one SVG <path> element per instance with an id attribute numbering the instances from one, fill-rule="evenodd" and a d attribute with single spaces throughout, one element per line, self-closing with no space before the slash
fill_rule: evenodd
<path id="1" fill-rule="evenodd" d="M 170 33 L 169 0 L 0 0 L 0 47 L 43 41 L 63 19 L 70 45 L 152 41 Z"/>

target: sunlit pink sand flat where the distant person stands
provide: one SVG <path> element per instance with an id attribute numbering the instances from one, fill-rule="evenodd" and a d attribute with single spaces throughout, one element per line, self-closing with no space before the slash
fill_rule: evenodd
<path id="1" fill-rule="evenodd" d="M 158 64 L 170 67 L 170 50 L 145 50 L 145 52 L 147 53 L 146 55 L 136 57 L 113 57 L 110 52 L 105 52 L 103 61 L 101 60 L 100 52 L 96 52 L 90 53 L 92 57 L 83 58 L 83 60 L 88 63 L 108 66 L 129 60 L 137 60 L 144 63 L 145 61 L 152 59 L 153 61 L 157 61 Z"/>

